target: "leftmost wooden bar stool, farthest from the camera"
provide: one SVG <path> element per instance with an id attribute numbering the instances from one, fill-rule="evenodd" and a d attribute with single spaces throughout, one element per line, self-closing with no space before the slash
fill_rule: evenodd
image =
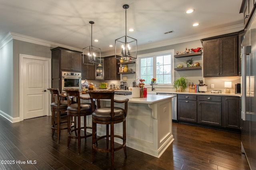
<path id="1" fill-rule="evenodd" d="M 67 123 L 68 121 L 61 121 L 61 117 L 67 116 L 68 102 L 66 100 L 61 100 L 60 91 L 58 88 L 48 88 L 52 96 L 51 111 L 52 111 L 52 137 L 54 136 L 54 131 L 57 130 L 57 141 L 60 143 L 60 130 L 68 129 L 67 126 L 60 127 L 62 123 Z M 57 99 L 57 100 L 56 100 Z M 56 114 L 55 114 L 56 113 Z M 56 120 L 57 119 L 57 120 Z"/>

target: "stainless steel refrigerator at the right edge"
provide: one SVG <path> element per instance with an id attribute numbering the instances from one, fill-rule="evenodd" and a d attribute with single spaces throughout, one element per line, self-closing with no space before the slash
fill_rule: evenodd
<path id="1" fill-rule="evenodd" d="M 256 17 L 249 23 L 242 41 L 242 111 L 241 139 L 242 152 L 251 170 L 256 169 L 256 99 L 254 96 L 256 78 Z"/>

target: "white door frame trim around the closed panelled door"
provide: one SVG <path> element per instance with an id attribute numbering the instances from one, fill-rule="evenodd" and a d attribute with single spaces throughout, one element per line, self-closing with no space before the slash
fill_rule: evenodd
<path id="1" fill-rule="evenodd" d="M 36 60 L 43 60 L 43 61 L 46 61 L 48 64 L 47 64 L 47 68 L 46 68 L 46 71 L 47 71 L 47 75 L 48 75 L 48 80 L 47 81 L 47 84 L 48 84 L 48 87 L 51 87 L 51 59 L 50 58 L 46 58 L 46 57 L 38 57 L 38 56 L 32 56 L 32 55 L 25 55 L 25 54 L 20 54 L 20 68 L 19 68 L 19 91 L 20 91 L 20 121 L 23 121 L 24 120 L 24 102 L 23 102 L 23 96 L 24 96 L 24 92 L 23 92 L 23 75 L 22 75 L 22 70 L 23 70 L 23 59 L 36 59 Z M 48 108 L 46 108 L 46 110 L 48 110 L 47 112 L 47 116 L 50 115 L 51 111 L 50 111 L 50 101 L 51 101 L 51 98 L 50 98 L 50 94 L 47 93 L 47 98 L 48 98 Z"/>

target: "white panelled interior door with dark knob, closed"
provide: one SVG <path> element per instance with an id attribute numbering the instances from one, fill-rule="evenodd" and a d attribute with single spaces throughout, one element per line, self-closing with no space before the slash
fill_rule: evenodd
<path id="1" fill-rule="evenodd" d="M 21 119 L 49 115 L 49 65 L 48 58 L 20 55 Z"/>

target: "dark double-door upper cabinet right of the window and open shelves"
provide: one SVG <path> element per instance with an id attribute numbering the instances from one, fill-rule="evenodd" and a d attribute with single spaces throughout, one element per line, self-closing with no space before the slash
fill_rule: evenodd
<path id="1" fill-rule="evenodd" d="M 204 77 L 238 75 L 238 33 L 202 39 Z"/>

